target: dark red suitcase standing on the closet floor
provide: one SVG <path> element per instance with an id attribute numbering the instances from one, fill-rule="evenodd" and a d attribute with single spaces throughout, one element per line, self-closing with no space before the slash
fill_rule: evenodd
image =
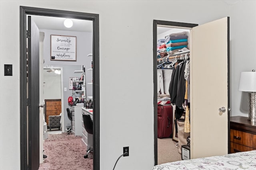
<path id="1" fill-rule="evenodd" d="M 158 105 L 157 107 L 157 137 L 172 137 L 172 106 Z"/>

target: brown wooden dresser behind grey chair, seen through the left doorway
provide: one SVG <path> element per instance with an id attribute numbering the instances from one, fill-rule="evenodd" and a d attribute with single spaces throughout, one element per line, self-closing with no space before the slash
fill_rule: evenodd
<path id="1" fill-rule="evenodd" d="M 45 99 L 44 102 L 46 107 L 44 117 L 47 125 L 49 125 L 48 116 L 60 115 L 61 113 L 61 99 Z"/>

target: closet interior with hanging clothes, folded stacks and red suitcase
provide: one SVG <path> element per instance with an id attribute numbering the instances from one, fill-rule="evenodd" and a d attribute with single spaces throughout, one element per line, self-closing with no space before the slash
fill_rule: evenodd
<path id="1" fill-rule="evenodd" d="M 169 157 L 168 162 L 189 159 L 190 29 L 157 26 L 156 63 L 158 150 L 159 147 L 169 149 L 169 155 L 158 152 L 158 160 L 160 157 Z M 164 139 L 172 140 L 170 145 L 175 147 L 159 146 Z"/>

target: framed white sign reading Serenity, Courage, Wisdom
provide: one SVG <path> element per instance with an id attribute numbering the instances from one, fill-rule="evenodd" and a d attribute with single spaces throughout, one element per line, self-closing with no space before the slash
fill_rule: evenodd
<path id="1" fill-rule="evenodd" d="M 76 37 L 51 35 L 51 60 L 76 61 Z"/>

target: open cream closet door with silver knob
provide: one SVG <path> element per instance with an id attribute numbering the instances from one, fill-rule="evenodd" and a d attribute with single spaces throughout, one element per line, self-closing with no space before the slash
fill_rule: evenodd
<path id="1" fill-rule="evenodd" d="M 191 158 L 228 153 L 228 25 L 229 18 L 222 18 L 192 28 Z"/>

